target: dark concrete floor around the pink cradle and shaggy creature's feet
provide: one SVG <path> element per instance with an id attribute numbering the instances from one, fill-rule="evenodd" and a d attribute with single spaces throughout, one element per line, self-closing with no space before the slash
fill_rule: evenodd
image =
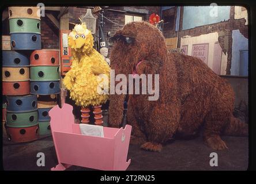
<path id="1" fill-rule="evenodd" d="M 202 137 L 192 140 L 176 140 L 165 145 L 161 152 L 141 150 L 139 145 L 130 145 L 128 159 L 131 164 L 127 170 L 246 170 L 248 166 L 248 137 L 228 137 L 223 140 L 228 150 L 214 151 L 206 147 Z M 36 155 L 45 154 L 45 167 L 37 167 Z M 210 153 L 218 154 L 218 167 L 210 167 Z M 104 153 L 103 153 L 104 154 Z M 4 144 L 4 170 L 50 170 L 57 164 L 52 137 L 31 143 Z M 91 170 L 72 166 L 68 170 Z"/>

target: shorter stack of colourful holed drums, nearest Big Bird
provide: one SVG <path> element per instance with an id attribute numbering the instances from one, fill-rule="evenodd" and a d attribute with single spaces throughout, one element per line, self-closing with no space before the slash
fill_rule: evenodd
<path id="1" fill-rule="evenodd" d="M 59 86 L 59 51 L 42 49 L 33 51 L 31 64 L 31 94 L 38 95 L 39 135 L 50 134 L 49 110 L 56 105 L 56 94 L 61 92 Z M 44 103 L 45 102 L 45 103 Z"/>

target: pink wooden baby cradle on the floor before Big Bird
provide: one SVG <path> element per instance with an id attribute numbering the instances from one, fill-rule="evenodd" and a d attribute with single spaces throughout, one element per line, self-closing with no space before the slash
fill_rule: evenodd
<path id="1" fill-rule="evenodd" d="M 73 107 L 63 104 L 49 112 L 51 132 L 58 165 L 51 170 L 66 170 L 74 165 L 97 170 L 126 170 L 131 126 L 123 128 L 104 127 L 104 137 L 81 134 L 79 124 L 74 124 Z"/>

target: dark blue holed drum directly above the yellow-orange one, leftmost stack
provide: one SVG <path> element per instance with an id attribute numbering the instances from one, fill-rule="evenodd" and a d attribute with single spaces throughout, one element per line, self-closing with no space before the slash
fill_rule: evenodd
<path id="1" fill-rule="evenodd" d="M 17 51 L 2 51 L 3 67 L 28 67 L 29 56 Z"/>

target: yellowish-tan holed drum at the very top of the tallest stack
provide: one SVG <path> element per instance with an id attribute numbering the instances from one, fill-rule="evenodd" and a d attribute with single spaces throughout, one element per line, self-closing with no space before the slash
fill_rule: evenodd
<path id="1" fill-rule="evenodd" d="M 40 20 L 40 7 L 37 6 L 12 6 L 9 7 L 9 19 L 34 18 Z"/>

